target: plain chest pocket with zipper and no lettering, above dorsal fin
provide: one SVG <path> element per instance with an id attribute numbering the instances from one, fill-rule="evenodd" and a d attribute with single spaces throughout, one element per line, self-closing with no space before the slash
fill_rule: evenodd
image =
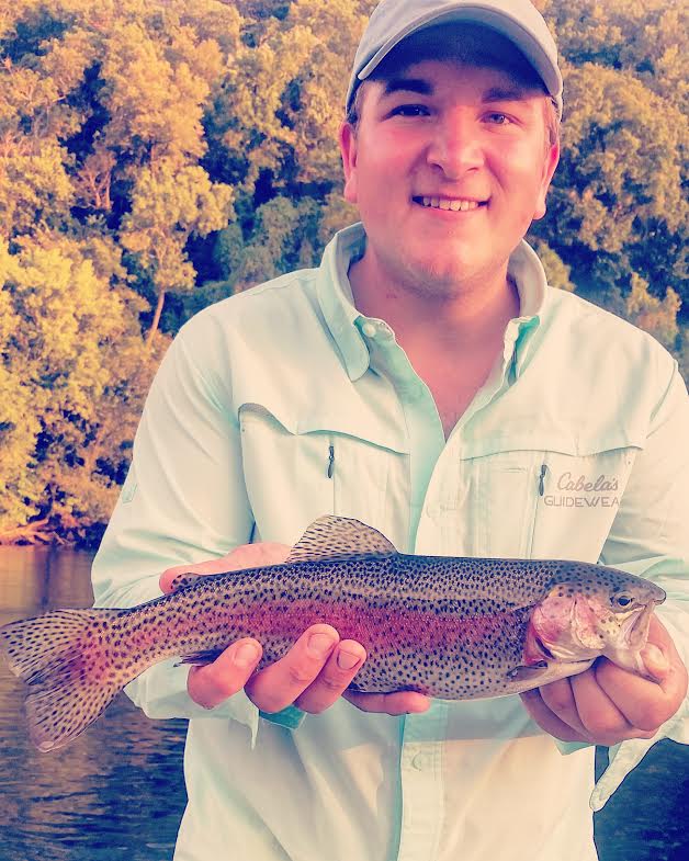
<path id="1" fill-rule="evenodd" d="M 293 543 L 324 514 L 381 530 L 399 514 L 392 510 L 399 494 L 389 494 L 388 485 L 407 474 L 405 452 L 325 422 L 298 432 L 255 404 L 241 408 L 239 424 L 255 541 Z"/>

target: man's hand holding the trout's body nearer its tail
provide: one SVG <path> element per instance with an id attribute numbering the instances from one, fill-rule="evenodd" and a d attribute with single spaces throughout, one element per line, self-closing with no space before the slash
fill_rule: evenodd
<path id="1" fill-rule="evenodd" d="M 218 559 L 178 565 L 160 576 L 160 589 L 170 592 L 180 574 L 221 574 L 223 571 L 279 565 L 290 555 L 285 544 L 263 542 L 244 544 Z M 204 709 L 214 709 L 242 688 L 262 712 L 272 713 L 296 705 L 318 714 L 335 703 L 361 669 L 366 653 L 353 639 L 340 641 L 338 632 L 326 624 L 307 628 L 287 654 L 256 672 L 262 647 L 257 639 L 245 637 L 228 646 L 213 664 L 191 667 L 188 690 L 191 699 Z M 346 699 L 364 712 L 405 714 L 423 712 L 430 701 L 419 693 L 355 693 Z"/>

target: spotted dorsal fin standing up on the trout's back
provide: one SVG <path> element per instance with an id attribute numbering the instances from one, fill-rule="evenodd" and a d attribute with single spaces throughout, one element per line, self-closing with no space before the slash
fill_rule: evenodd
<path id="1" fill-rule="evenodd" d="M 315 520 L 292 547 L 287 563 L 344 559 L 362 553 L 397 553 L 395 545 L 360 520 L 334 514 Z"/>

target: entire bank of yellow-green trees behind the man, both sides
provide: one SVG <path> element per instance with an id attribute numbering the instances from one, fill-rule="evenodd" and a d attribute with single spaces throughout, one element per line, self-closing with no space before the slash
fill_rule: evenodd
<path id="1" fill-rule="evenodd" d="M 554 286 L 651 332 L 687 378 L 689 11 L 535 4 L 563 57 L 565 116 L 528 239 Z M 336 140 L 374 5 L 3 5 L 0 544 L 97 546 L 174 333 L 213 302 L 317 265 L 357 220 Z"/>

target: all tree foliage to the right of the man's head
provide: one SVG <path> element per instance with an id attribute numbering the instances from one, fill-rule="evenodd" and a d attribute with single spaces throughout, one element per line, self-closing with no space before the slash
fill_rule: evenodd
<path id="1" fill-rule="evenodd" d="M 534 233 L 572 267 L 579 292 L 648 328 L 679 355 L 673 328 L 632 310 L 643 283 L 681 331 L 687 280 L 686 67 L 689 10 L 664 0 L 541 0 L 564 57 L 562 158 Z M 679 336 L 678 336 L 679 337 Z"/>

